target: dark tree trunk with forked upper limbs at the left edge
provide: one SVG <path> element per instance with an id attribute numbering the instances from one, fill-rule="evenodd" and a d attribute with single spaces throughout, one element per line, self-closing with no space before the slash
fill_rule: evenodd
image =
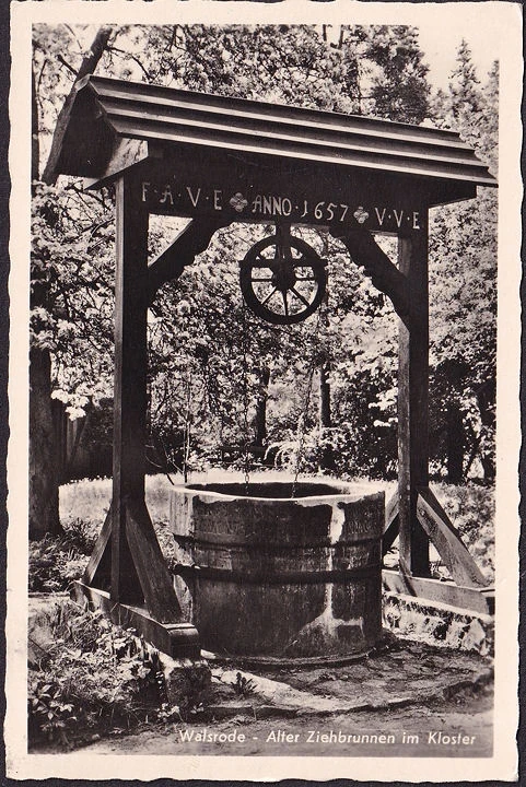
<path id="1" fill-rule="evenodd" d="M 93 73 L 107 45 L 109 27 L 101 27 L 90 51 L 79 69 L 78 79 Z M 56 183 L 56 165 L 63 132 L 75 91 L 72 89 L 57 120 L 51 152 L 44 169 L 43 180 Z M 35 79 L 32 84 L 32 180 L 38 180 L 38 110 Z M 31 307 L 48 306 L 48 286 L 44 278 L 32 278 Z M 42 539 L 46 533 L 61 532 L 59 519 L 59 446 L 51 411 L 51 356 L 49 350 L 33 346 L 30 351 L 30 539 Z"/>

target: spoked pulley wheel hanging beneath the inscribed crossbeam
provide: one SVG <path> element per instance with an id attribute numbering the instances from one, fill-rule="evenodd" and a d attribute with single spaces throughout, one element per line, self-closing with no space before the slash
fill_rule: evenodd
<path id="1" fill-rule="evenodd" d="M 255 244 L 241 263 L 245 303 L 267 322 L 301 322 L 322 303 L 326 265 L 305 240 L 278 227 L 276 235 Z"/>

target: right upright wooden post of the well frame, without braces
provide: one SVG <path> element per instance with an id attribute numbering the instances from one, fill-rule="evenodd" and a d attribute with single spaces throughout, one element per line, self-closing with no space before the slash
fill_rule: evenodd
<path id="1" fill-rule="evenodd" d="M 398 266 L 407 277 L 409 316 L 399 322 L 398 517 L 400 569 L 430 576 L 429 538 L 417 516 L 418 488 L 429 484 L 429 291 L 428 221 L 398 242 Z"/>

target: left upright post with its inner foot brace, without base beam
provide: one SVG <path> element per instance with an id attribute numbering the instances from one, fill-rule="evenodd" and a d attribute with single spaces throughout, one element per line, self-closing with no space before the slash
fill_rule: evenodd
<path id="1" fill-rule="evenodd" d="M 120 606 L 144 600 L 153 620 L 171 625 L 171 648 L 175 648 L 179 636 L 176 624 L 183 624 L 183 613 L 144 503 L 148 212 L 137 181 L 126 174 L 116 188 L 116 254 L 109 598 Z M 143 618 L 139 615 L 138 620 Z"/>

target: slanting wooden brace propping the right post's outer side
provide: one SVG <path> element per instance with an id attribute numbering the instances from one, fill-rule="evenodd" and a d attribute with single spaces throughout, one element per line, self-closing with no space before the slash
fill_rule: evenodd
<path id="1" fill-rule="evenodd" d="M 418 520 L 435 545 L 453 580 L 459 586 L 486 587 L 488 583 L 482 572 L 434 494 L 429 488 L 420 488 L 418 492 Z"/>

